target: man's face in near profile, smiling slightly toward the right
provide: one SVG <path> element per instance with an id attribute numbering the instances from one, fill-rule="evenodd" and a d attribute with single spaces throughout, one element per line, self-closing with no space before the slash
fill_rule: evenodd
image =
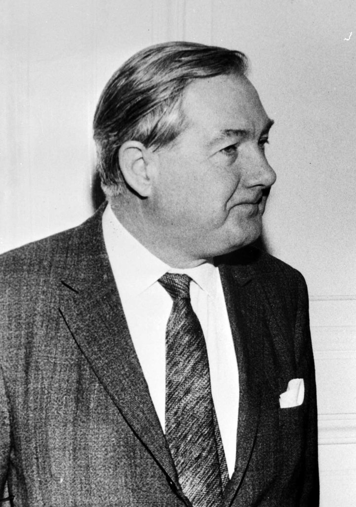
<path id="1" fill-rule="evenodd" d="M 183 109 L 188 127 L 156 152 L 149 207 L 158 234 L 194 263 L 260 235 L 276 174 L 264 154 L 272 122 L 246 78 L 195 80 Z"/>

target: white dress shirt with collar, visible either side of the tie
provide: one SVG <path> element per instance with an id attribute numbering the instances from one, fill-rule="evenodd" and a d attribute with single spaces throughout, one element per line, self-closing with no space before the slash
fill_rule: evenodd
<path id="1" fill-rule="evenodd" d="M 157 280 L 166 272 L 185 273 L 193 279 L 191 303 L 206 341 L 211 392 L 231 477 L 236 458 L 239 376 L 218 269 L 212 263 L 170 268 L 120 224 L 110 205 L 103 214 L 103 232 L 133 346 L 163 431 L 165 336 L 172 300 Z"/>

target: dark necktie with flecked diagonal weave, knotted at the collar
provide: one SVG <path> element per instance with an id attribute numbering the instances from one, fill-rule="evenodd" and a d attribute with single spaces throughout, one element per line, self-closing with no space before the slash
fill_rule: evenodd
<path id="1" fill-rule="evenodd" d="M 208 355 L 190 302 L 188 275 L 158 281 L 173 299 L 166 329 L 166 439 L 182 489 L 194 507 L 219 505 L 222 485 L 214 434 Z"/>

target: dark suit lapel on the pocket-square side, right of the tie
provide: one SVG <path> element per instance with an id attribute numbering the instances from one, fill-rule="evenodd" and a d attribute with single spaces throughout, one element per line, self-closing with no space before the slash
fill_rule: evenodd
<path id="1" fill-rule="evenodd" d="M 239 368 L 240 401 L 235 472 L 224 492 L 229 505 L 245 474 L 260 413 L 263 377 L 263 304 L 252 272 L 245 267 L 220 267 Z"/>

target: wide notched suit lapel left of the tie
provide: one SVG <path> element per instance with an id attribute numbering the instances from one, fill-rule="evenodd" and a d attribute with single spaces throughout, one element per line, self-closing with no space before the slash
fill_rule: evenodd
<path id="1" fill-rule="evenodd" d="M 127 424 L 178 486 L 106 255 L 101 218 L 102 210 L 73 233 L 60 311 Z"/>

